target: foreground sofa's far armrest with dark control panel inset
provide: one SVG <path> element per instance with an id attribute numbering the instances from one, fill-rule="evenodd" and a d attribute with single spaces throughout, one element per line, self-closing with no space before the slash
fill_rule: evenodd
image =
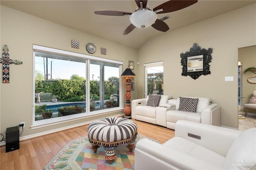
<path id="1" fill-rule="evenodd" d="M 188 136 L 188 133 L 200 136 L 200 139 Z M 196 144 L 204 146 L 224 157 L 234 140 L 242 131 L 217 127 L 202 123 L 180 120 L 175 125 L 175 136 L 190 140 Z"/>

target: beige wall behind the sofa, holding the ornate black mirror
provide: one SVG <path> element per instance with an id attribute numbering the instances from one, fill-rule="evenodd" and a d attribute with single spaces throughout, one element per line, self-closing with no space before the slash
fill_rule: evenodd
<path id="1" fill-rule="evenodd" d="M 213 49 L 211 74 L 196 80 L 181 76 L 180 53 L 193 43 Z M 165 95 L 210 97 L 221 107 L 221 125 L 238 128 L 238 48 L 250 45 L 256 45 L 255 4 L 152 38 L 138 51 L 138 77 L 144 77 L 143 63 L 164 61 Z"/>

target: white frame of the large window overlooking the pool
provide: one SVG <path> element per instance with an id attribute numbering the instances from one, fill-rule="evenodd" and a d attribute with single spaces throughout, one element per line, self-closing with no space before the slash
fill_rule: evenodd
<path id="1" fill-rule="evenodd" d="M 71 51 L 65 51 L 61 49 L 54 49 L 50 47 L 44 47 L 40 45 L 33 45 L 33 87 L 32 87 L 32 126 L 31 129 L 36 129 L 36 128 L 41 128 L 41 127 L 47 127 L 50 125 L 56 125 L 60 123 L 66 123 L 70 121 L 75 121 L 79 119 L 84 119 L 85 117 L 95 117 L 98 115 L 104 115 L 108 113 L 114 113 L 114 112 L 119 112 L 122 111 L 123 109 L 123 102 L 120 102 L 119 107 L 115 108 L 110 108 L 110 109 L 102 109 L 98 111 L 93 111 L 90 112 L 90 102 L 86 102 L 86 114 L 74 114 L 74 115 L 68 115 L 64 117 L 58 117 L 58 118 L 53 118 L 53 119 L 44 119 L 40 121 L 35 121 L 35 53 L 36 51 L 40 52 L 46 52 L 46 53 L 56 53 L 56 54 L 61 54 L 61 55 L 69 55 L 69 56 L 74 56 L 74 57 L 82 57 L 86 59 L 86 80 L 90 80 L 90 60 L 94 61 L 103 61 L 103 62 L 109 62 L 109 63 L 115 63 L 119 64 L 119 75 L 122 74 L 122 67 L 123 67 L 123 62 L 122 61 L 116 61 L 112 59 L 106 59 L 106 58 L 101 58 L 101 57 L 95 57 L 91 55 L 86 55 L 86 54 L 81 54 L 81 53 L 75 53 Z M 119 89 L 120 89 L 120 99 L 122 100 L 122 79 L 119 77 Z M 90 99 L 90 81 L 86 81 L 86 99 Z"/>

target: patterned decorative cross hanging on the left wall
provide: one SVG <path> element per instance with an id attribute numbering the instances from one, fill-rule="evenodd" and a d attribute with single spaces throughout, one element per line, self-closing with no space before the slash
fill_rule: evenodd
<path id="1" fill-rule="evenodd" d="M 0 58 L 0 63 L 3 64 L 3 83 L 9 83 L 10 82 L 10 64 L 22 64 L 23 62 L 22 61 L 19 61 L 19 60 L 12 60 L 12 59 L 9 59 L 9 48 L 7 45 L 4 45 L 3 47 L 3 57 Z"/>

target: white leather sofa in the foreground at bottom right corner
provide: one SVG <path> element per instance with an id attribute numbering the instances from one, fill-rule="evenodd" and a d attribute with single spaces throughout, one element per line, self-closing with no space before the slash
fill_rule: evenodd
<path id="1" fill-rule="evenodd" d="M 256 128 L 242 132 L 178 121 L 175 137 L 164 144 L 148 139 L 137 142 L 134 167 L 135 170 L 255 170 Z"/>

